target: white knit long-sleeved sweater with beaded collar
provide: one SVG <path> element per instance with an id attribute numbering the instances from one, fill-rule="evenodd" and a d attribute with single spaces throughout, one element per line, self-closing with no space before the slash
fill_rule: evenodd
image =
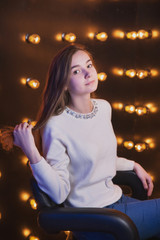
<path id="1" fill-rule="evenodd" d="M 117 157 L 111 107 L 92 100 L 86 116 L 68 108 L 42 129 L 43 156 L 30 164 L 39 187 L 56 203 L 73 207 L 104 207 L 122 195 L 112 183 L 116 170 L 132 170 L 134 161 Z"/>

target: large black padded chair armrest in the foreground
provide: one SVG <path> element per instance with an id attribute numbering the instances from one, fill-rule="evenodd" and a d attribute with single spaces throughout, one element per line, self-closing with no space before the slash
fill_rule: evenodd
<path id="1" fill-rule="evenodd" d="M 47 233 L 58 231 L 107 232 L 117 240 L 138 240 L 131 219 L 120 211 L 106 208 L 44 208 L 38 215 L 39 225 Z"/>

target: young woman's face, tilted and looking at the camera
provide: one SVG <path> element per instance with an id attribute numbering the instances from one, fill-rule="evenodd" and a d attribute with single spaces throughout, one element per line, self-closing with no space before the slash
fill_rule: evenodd
<path id="1" fill-rule="evenodd" d="M 82 50 L 72 56 L 68 91 L 71 97 L 90 94 L 97 89 L 97 71 L 90 56 Z"/>

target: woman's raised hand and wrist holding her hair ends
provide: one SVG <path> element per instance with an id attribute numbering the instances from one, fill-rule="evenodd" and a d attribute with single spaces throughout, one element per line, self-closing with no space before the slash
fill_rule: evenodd
<path id="1" fill-rule="evenodd" d="M 37 163 L 41 160 L 41 156 L 35 145 L 32 128 L 33 126 L 26 122 L 16 125 L 13 131 L 14 145 L 23 150 L 31 163 Z"/>

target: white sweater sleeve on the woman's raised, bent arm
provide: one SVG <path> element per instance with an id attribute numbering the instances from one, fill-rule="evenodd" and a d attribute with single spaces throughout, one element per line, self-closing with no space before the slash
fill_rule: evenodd
<path id="1" fill-rule="evenodd" d="M 47 193 L 57 203 L 63 203 L 69 192 L 69 157 L 60 136 L 51 126 L 46 126 L 42 133 L 43 156 L 41 161 L 30 164 L 42 191 Z"/>

